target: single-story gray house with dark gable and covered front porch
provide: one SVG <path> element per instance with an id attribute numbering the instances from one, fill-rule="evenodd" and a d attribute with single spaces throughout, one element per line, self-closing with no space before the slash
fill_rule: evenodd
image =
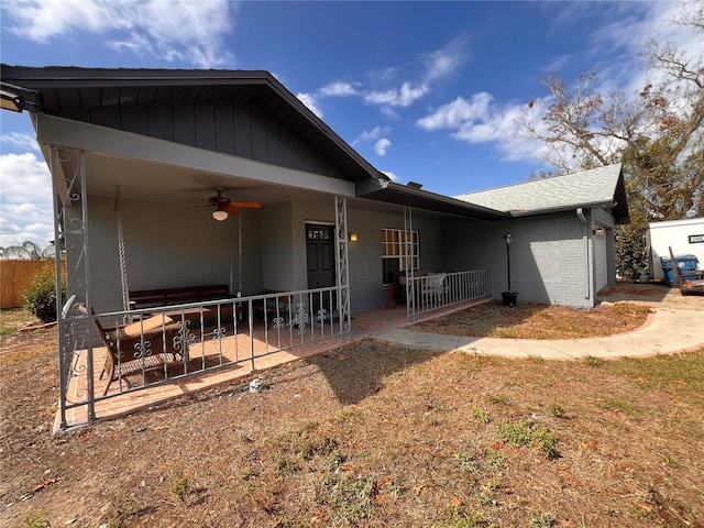
<path id="1" fill-rule="evenodd" d="M 3 108 L 31 116 L 66 251 L 62 427 L 72 408 L 90 420 L 116 387 L 152 383 L 152 354 L 182 369 L 156 383 L 255 369 L 272 351 L 343 339 L 351 314 L 384 307 L 394 287 L 409 320 L 499 297 L 507 232 L 521 300 L 591 308 L 614 280 L 613 229 L 628 219 L 619 165 L 448 197 L 389 182 L 266 72 L 2 65 L 1 78 Z M 111 386 L 103 327 L 134 318 L 141 377 L 123 385 L 111 342 Z"/>

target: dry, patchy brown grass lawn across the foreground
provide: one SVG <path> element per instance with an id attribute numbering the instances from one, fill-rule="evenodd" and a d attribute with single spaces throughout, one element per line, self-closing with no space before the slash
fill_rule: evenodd
<path id="1" fill-rule="evenodd" d="M 2 317 L 0 526 L 704 526 L 704 350 L 548 362 L 365 340 L 263 373 L 261 393 L 53 437 L 55 330 Z"/>

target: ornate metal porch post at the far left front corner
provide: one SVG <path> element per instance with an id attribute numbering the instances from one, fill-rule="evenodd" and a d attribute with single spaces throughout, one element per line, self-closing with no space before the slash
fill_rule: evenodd
<path id="1" fill-rule="evenodd" d="M 92 320 L 88 252 L 88 204 L 84 151 L 50 145 L 50 169 L 54 197 L 54 243 L 56 244 L 56 299 L 58 326 L 61 428 L 68 428 L 69 408 L 87 406 L 87 421 L 95 421 Z M 80 207 L 77 207 L 80 206 Z M 66 293 L 62 296 L 62 246 L 66 258 Z M 86 304 L 88 314 L 78 310 Z M 81 349 L 86 360 L 79 366 Z M 68 394 L 72 377 L 85 377 L 85 388 Z M 80 382 L 80 380 L 77 380 Z"/>

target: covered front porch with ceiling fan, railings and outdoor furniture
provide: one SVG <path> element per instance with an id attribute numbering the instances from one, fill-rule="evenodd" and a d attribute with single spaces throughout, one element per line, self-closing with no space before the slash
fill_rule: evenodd
<path id="1" fill-rule="evenodd" d="M 393 226 L 405 240 L 422 232 L 424 260 L 440 270 L 442 215 L 414 216 L 408 206 L 348 196 L 354 189 L 344 186 L 333 194 L 260 180 L 253 190 L 231 174 L 45 147 L 68 277 L 58 321 L 59 429 L 246 378 L 369 334 L 375 324 L 388 329 L 491 297 L 487 270 L 416 277 L 420 254 L 400 244 L 407 262 L 396 262 L 409 270 L 408 300 L 365 323 L 361 315 L 386 301 L 380 229 Z M 261 208 L 216 221 L 212 204 L 194 198 L 212 193 L 190 187 L 206 180 Z M 352 229 L 362 243 L 350 241 Z M 207 300 L 157 299 L 212 283 L 220 295 Z M 135 297 L 153 304 L 135 307 Z M 360 307 L 354 323 L 352 306 Z"/>

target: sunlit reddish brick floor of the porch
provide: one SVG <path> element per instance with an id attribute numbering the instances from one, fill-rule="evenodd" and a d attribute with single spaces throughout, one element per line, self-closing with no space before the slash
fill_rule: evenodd
<path id="1" fill-rule="evenodd" d="M 464 308 L 470 306 L 471 304 L 466 304 L 463 306 L 455 306 L 452 310 L 443 310 L 442 312 L 454 311 L 457 309 Z M 437 317 L 441 312 L 436 312 L 432 317 Z M 399 305 L 396 309 L 377 309 L 365 312 L 359 312 L 352 315 L 352 332 L 350 336 L 351 342 L 359 341 L 366 337 L 372 337 L 376 334 L 381 334 L 393 330 L 395 328 L 403 328 L 406 324 L 406 307 Z M 271 332 L 271 331 L 270 331 Z M 295 334 L 295 333 L 294 333 Z M 256 337 L 256 332 L 255 332 Z M 95 411 L 96 418 L 98 420 L 109 420 L 119 416 L 124 416 L 129 414 L 136 413 L 141 409 L 148 408 L 155 404 L 163 403 L 170 398 L 175 398 L 178 396 L 184 396 L 188 394 L 193 394 L 199 391 L 204 391 L 207 388 L 211 388 L 216 385 L 223 383 L 232 383 L 240 381 L 242 384 L 246 383 L 249 380 L 255 377 L 257 374 L 261 374 L 263 371 L 270 370 L 275 366 L 279 366 L 296 360 L 300 360 L 304 358 L 310 358 L 312 355 L 321 354 L 323 352 L 328 352 L 330 350 L 334 350 L 341 345 L 340 337 L 329 338 L 316 343 L 307 344 L 304 346 L 298 346 L 292 350 L 286 351 L 274 351 L 273 353 L 264 356 L 255 358 L 255 371 L 251 370 L 251 363 L 248 360 L 251 353 L 250 349 L 250 339 L 249 336 L 241 337 L 242 343 L 234 344 L 234 337 L 223 338 L 222 343 L 218 341 L 206 341 L 204 344 L 201 342 L 196 342 L 190 350 L 189 356 L 190 361 L 199 361 L 202 359 L 216 359 L 220 356 L 220 352 L 222 352 L 222 358 L 227 362 L 240 360 L 239 363 L 231 364 L 228 366 L 223 366 L 218 370 L 205 371 L 198 374 L 191 374 L 189 376 L 184 376 L 179 378 L 175 378 L 170 382 L 164 382 L 158 385 L 152 385 L 139 391 L 130 391 L 123 394 L 117 394 L 120 392 L 120 384 L 124 387 L 125 383 L 129 386 L 128 376 L 124 376 L 124 380 L 116 380 L 111 383 L 109 387 L 108 394 L 114 394 L 114 396 L 108 397 L 106 399 L 100 399 L 96 402 Z M 228 341 L 229 340 L 229 341 Z M 220 346 L 222 344 L 222 346 Z M 284 343 L 285 344 L 285 343 Z M 346 344 L 346 343 L 342 343 Z M 254 353 L 260 354 L 266 352 L 266 342 L 264 340 L 254 339 Z M 220 350 L 219 350 L 220 349 Z M 237 355 L 239 358 L 234 358 L 233 351 L 239 349 Z M 226 352 L 229 350 L 229 352 Z M 268 350 L 272 349 L 272 339 L 270 338 Z M 106 389 L 106 385 L 108 384 L 107 380 L 99 380 L 100 372 L 102 370 L 102 364 L 105 362 L 105 354 L 107 350 L 105 348 L 94 348 L 94 380 L 95 380 L 95 393 L 96 395 L 102 395 Z M 242 361 L 248 360 L 248 361 Z M 69 399 L 79 402 L 85 399 L 87 394 L 87 384 L 88 376 L 85 374 L 86 372 L 86 354 L 81 353 L 78 359 L 78 364 L 76 365 L 76 372 L 81 372 L 84 374 L 72 377 L 68 387 Z M 168 364 L 168 370 L 170 372 L 172 367 L 179 367 L 183 370 L 183 364 L 180 363 L 170 363 Z M 154 371 L 158 374 L 161 369 L 154 369 Z M 147 371 L 150 372 L 150 371 Z M 141 373 L 138 373 L 141 374 Z M 163 374 L 163 373 L 162 373 Z M 170 374 L 175 375 L 175 374 Z M 139 376 L 141 377 L 141 375 Z M 136 384 L 139 386 L 140 383 Z M 80 405 L 74 408 L 70 408 L 66 411 L 66 425 L 68 428 L 75 426 L 82 426 L 88 422 L 88 405 Z M 61 411 L 57 413 L 57 416 L 54 421 L 54 432 L 61 431 Z"/>

